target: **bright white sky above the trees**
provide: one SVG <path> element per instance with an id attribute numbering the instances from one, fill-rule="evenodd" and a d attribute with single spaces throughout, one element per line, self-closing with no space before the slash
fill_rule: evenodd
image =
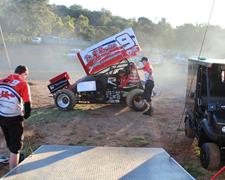
<path id="1" fill-rule="evenodd" d="M 206 24 L 214 0 L 49 0 L 50 4 L 77 4 L 91 11 L 109 10 L 126 19 L 146 17 L 157 23 L 166 18 L 173 27 L 185 24 Z M 225 0 L 215 0 L 210 24 L 225 28 Z"/>

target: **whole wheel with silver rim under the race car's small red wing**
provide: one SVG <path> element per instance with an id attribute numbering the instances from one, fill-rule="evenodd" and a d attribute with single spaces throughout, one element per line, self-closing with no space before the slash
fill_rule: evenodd
<path id="1" fill-rule="evenodd" d="M 77 103 L 75 94 L 69 89 L 62 89 L 55 95 L 55 105 L 63 111 L 72 110 Z"/>

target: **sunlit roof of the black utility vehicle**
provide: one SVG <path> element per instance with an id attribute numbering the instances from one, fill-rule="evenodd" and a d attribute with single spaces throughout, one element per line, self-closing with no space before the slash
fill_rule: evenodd
<path id="1" fill-rule="evenodd" d="M 188 61 L 191 61 L 193 63 L 211 67 L 213 64 L 224 64 L 225 65 L 225 59 L 211 59 L 211 58 L 202 58 L 202 57 L 190 57 Z"/>

